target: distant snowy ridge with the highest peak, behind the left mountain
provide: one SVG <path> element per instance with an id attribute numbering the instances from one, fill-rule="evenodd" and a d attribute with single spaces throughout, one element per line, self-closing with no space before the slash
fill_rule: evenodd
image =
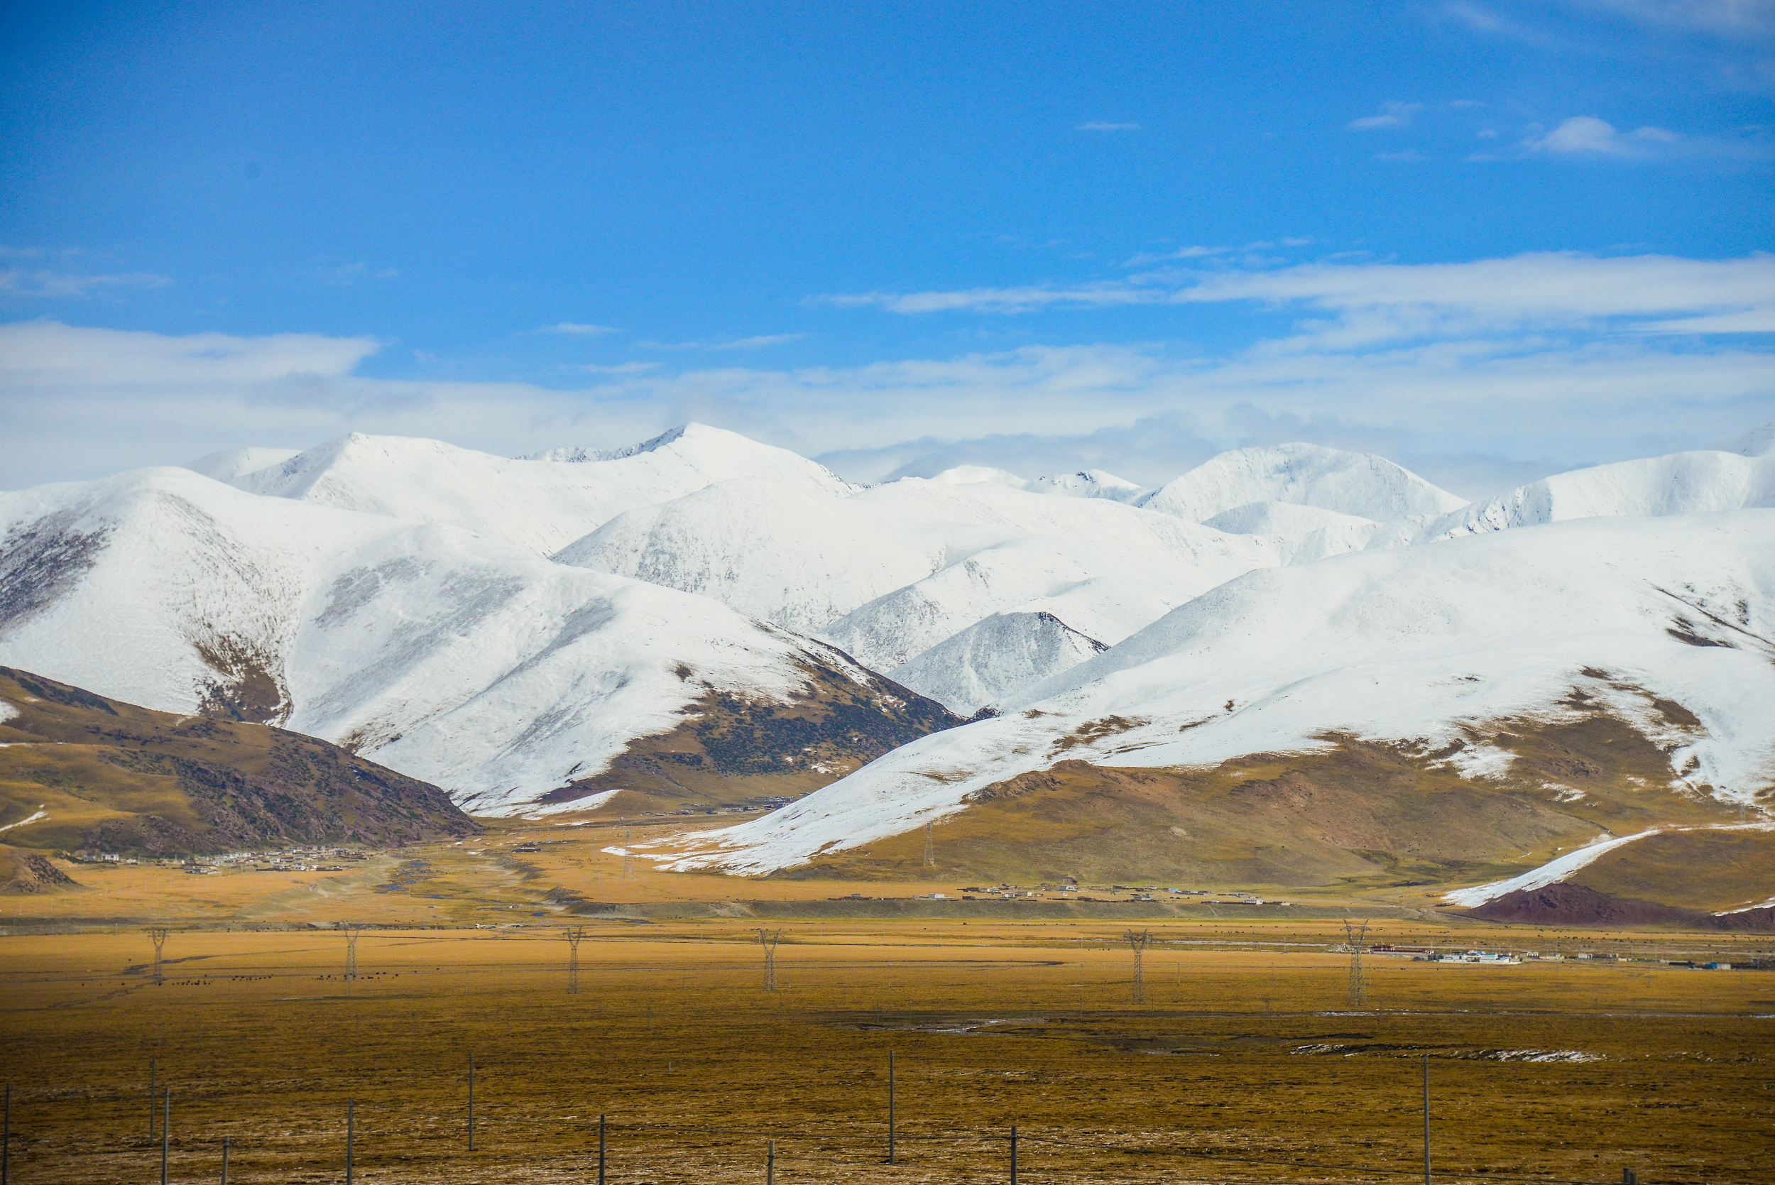
<path id="1" fill-rule="evenodd" d="M 627 509 L 676 498 L 715 481 L 767 477 L 822 493 L 852 490 L 815 461 L 705 424 L 687 424 L 609 454 L 572 452 L 582 459 L 511 459 L 440 440 L 351 433 L 225 479 L 250 493 L 447 523 L 538 555 L 556 552 Z M 224 477 L 229 456 L 193 465 Z"/>

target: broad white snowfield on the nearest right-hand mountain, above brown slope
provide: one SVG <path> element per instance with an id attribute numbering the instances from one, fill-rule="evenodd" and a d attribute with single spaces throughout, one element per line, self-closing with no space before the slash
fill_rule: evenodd
<path id="1" fill-rule="evenodd" d="M 1477 740 L 1484 727 L 1560 718 L 1574 687 L 1668 745 L 1686 784 L 1745 800 L 1775 784 L 1771 660 L 1775 511 L 1590 518 L 1360 552 L 1239 577 L 1001 718 L 659 853 L 674 867 L 785 867 L 966 809 L 973 791 L 1061 759 L 1203 766 L 1349 734 L 1459 740 L 1452 765 L 1496 775 L 1511 757 Z M 1672 724 L 1654 699 L 1699 724 Z"/>

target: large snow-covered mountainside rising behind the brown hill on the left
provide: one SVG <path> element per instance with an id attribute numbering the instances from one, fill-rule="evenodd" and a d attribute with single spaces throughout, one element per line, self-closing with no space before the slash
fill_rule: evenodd
<path id="1" fill-rule="evenodd" d="M 183 468 L 0 495 L 0 663 L 233 704 L 481 812 L 598 772 L 705 690 L 868 678 L 705 598 Z"/>

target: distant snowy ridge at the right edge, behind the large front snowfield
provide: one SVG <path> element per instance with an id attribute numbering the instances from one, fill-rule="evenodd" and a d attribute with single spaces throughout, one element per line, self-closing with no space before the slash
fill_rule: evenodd
<path id="1" fill-rule="evenodd" d="M 1672 452 L 1555 474 L 1475 502 L 1425 527 L 1427 539 L 1569 518 L 1704 514 L 1775 506 L 1775 456 Z"/>

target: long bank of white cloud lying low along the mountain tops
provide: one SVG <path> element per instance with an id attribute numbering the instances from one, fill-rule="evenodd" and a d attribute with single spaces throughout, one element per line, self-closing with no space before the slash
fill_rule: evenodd
<path id="1" fill-rule="evenodd" d="M 1775 255 L 1179 266 L 1102 287 L 973 289 L 987 296 L 944 307 L 1003 312 L 1040 307 L 1030 293 L 1060 302 L 1077 291 L 1102 307 L 1113 293 L 1180 318 L 1216 303 L 1264 314 L 1253 325 L 1274 325 L 1276 312 L 1294 325 L 1212 353 L 1145 342 L 847 367 L 643 362 L 589 367 L 584 388 L 550 390 L 364 378 L 357 369 L 376 351 L 367 337 L 25 321 L 0 326 L 0 472 L 7 484 L 91 477 L 344 431 L 502 454 L 611 447 L 698 417 L 829 456 L 857 479 L 973 461 L 1163 481 L 1214 449 L 1306 438 L 1486 493 L 1775 419 L 1775 353 L 1752 337 L 1775 325 Z"/>

